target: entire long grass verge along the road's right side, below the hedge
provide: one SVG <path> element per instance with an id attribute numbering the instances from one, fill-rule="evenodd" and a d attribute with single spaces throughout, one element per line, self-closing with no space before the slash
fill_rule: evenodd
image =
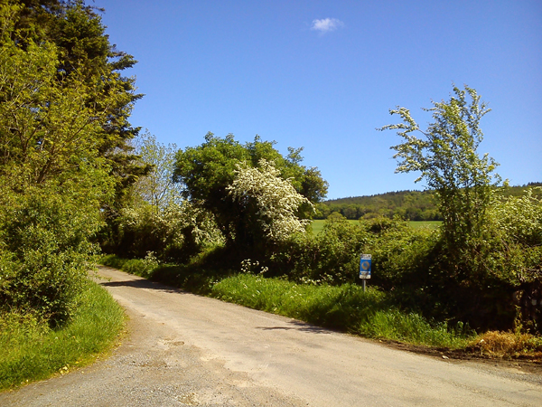
<path id="1" fill-rule="evenodd" d="M 262 275 L 220 270 L 219 263 L 211 261 L 210 265 L 203 259 L 185 265 L 153 265 L 149 260 L 123 260 L 108 255 L 102 257 L 100 263 L 197 294 L 293 317 L 320 327 L 458 351 L 449 354 L 453 357 L 542 361 L 542 337 L 521 333 L 521 329 L 477 334 L 461 323 L 450 326 L 445 322 L 429 321 L 415 312 L 401 309 L 392 296 L 375 288 L 363 292 L 360 286 L 352 284 L 327 286 L 266 279 Z"/>

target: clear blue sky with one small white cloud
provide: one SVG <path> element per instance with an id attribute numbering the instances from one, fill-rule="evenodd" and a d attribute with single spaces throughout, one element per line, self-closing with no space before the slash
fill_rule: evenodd
<path id="1" fill-rule="evenodd" d="M 196 147 L 212 132 L 304 147 L 328 199 L 422 190 L 395 174 L 389 109 L 421 108 L 468 85 L 491 108 L 489 153 L 510 185 L 542 182 L 542 2 L 87 0 L 109 41 L 134 55 L 133 126 Z"/>

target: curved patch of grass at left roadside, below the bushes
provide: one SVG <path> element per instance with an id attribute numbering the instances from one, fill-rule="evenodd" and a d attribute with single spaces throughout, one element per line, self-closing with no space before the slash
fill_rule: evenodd
<path id="1" fill-rule="evenodd" d="M 0 391 L 93 362 L 115 344 L 124 318 L 117 302 L 91 281 L 75 316 L 60 329 L 29 316 L 0 316 Z"/>

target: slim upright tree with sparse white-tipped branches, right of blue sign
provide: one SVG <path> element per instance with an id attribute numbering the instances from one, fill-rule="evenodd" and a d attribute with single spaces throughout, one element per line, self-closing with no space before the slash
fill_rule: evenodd
<path id="1" fill-rule="evenodd" d="M 476 90 L 453 87 L 454 96 L 433 102 L 435 121 L 421 130 L 405 108 L 390 110 L 403 123 L 380 130 L 397 129 L 404 143 L 391 147 L 397 151 L 397 173 L 419 171 L 416 182 L 425 180 L 435 190 L 438 208 L 444 219 L 444 240 L 453 261 L 464 255 L 474 259 L 479 253 L 486 213 L 491 204 L 493 186 L 500 183 L 492 175 L 497 163 L 487 154 L 479 156 L 483 134 L 481 118 L 490 111 Z M 418 138 L 414 134 L 421 134 Z"/>

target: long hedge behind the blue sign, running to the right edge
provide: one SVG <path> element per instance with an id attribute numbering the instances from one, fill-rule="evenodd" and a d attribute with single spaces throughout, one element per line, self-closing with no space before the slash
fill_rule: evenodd
<path id="1" fill-rule="evenodd" d="M 520 290 L 523 319 L 531 320 L 524 326 L 537 329 L 541 313 L 529 304 L 538 293 L 542 295 L 542 289 L 537 289 L 537 279 L 527 276 L 539 272 L 542 250 L 498 231 L 487 225 L 478 260 L 470 261 L 477 269 L 468 273 L 465 264 L 458 265 L 448 255 L 440 230 L 413 229 L 407 222 L 388 218 L 352 224 L 340 215 L 332 216 L 318 235 L 295 235 L 275 248 L 271 260 L 258 260 L 269 268 L 266 276 L 316 284 L 360 284 L 360 254 L 370 253 L 370 285 L 389 292 L 401 307 L 436 321 L 467 322 L 481 330 L 514 326 L 513 293 Z"/>

